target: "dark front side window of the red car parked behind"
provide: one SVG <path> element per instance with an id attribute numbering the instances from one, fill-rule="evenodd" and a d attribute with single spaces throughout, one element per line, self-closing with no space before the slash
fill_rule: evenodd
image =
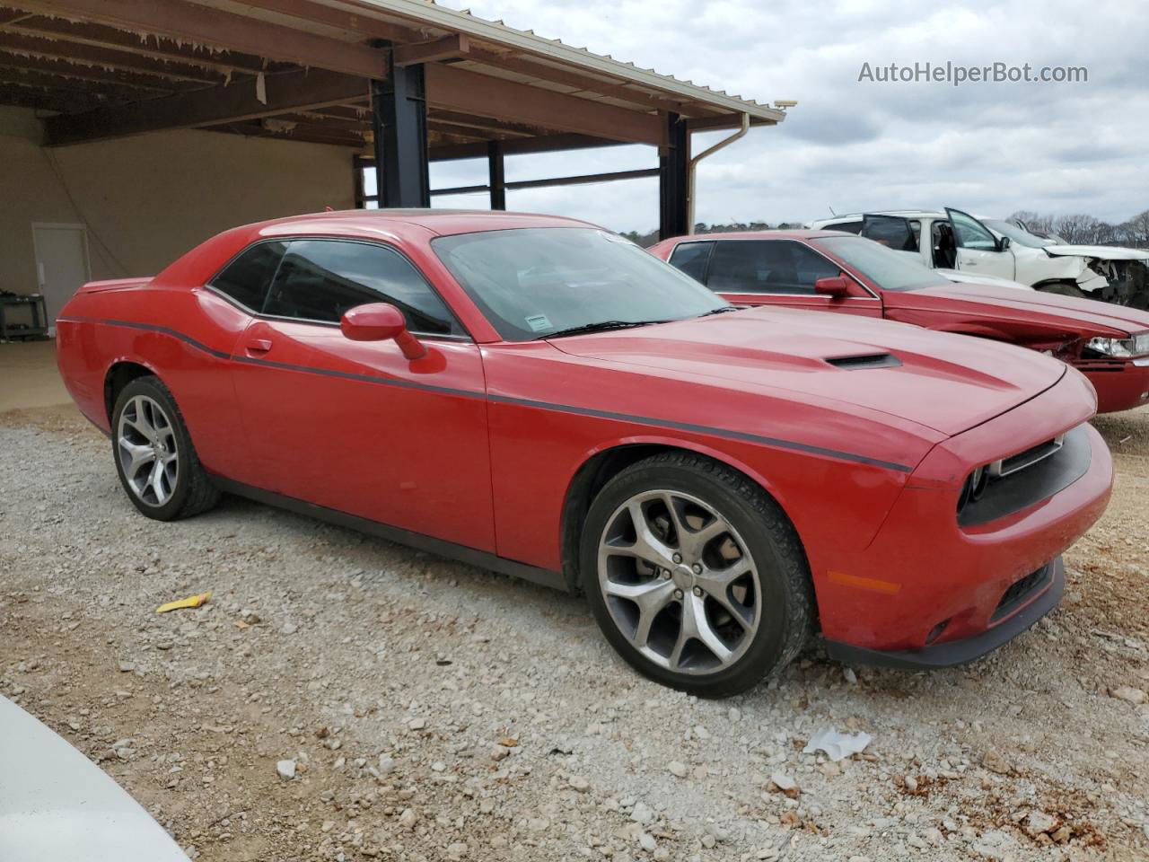
<path id="1" fill-rule="evenodd" d="M 810 294 L 819 278 L 841 269 L 791 239 L 719 241 L 710 261 L 710 290 L 719 293 Z"/>

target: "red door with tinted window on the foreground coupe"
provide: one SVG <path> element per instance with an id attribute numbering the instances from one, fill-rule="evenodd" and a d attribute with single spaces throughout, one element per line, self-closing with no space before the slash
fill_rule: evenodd
<path id="1" fill-rule="evenodd" d="M 342 313 L 370 302 L 400 308 L 426 355 L 347 339 Z M 479 351 L 396 248 L 288 241 L 234 360 L 262 487 L 494 551 Z"/>

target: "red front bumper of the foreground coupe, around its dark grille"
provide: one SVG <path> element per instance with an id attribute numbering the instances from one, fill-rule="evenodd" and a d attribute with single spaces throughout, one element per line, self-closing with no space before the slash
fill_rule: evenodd
<path id="1" fill-rule="evenodd" d="M 839 645 L 839 653 L 853 647 L 919 657 L 927 648 L 967 641 L 950 649 L 969 652 L 976 649 L 969 644 L 996 646 L 1012 637 L 1011 629 L 1002 626 L 1021 610 L 1007 614 L 1003 599 L 1056 561 L 1109 502 L 1112 457 L 1087 422 L 1092 413 L 1089 384 L 1069 371 L 1046 393 L 935 446 L 867 546 L 825 553 L 811 547 L 823 637 Z M 1009 506 L 976 523 L 958 522 L 955 487 L 976 465 L 1015 454 L 1024 441 L 1070 429 L 1075 429 L 1071 456 L 1084 459 L 1084 464 L 1064 476 L 1054 475 L 1058 467 L 1049 471 L 1050 482 L 1040 493 L 1013 497 Z M 1032 600 L 1040 600 L 1035 592 Z"/>

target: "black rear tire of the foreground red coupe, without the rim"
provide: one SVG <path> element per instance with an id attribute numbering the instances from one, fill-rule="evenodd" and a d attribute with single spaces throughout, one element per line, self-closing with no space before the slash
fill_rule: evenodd
<path id="1" fill-rule="evenodd" d="M 118 433 L 121 417 L 128 405 L 138 395 L 145 395 L 160 406 L 175 438 L 178 470 L 171 486 L 170 499 L 160 505 L 149 503 L 141 499 L 140 494 L 129 483 L 121 459 Z M 124 493 L 128 494 L 128 499 L 132 501 L 136 508 L 149 518 L 154 518 L 155 521 L 186 518 L 207 511 L 219 501 L 219 490 L 211 483 L 207 471 L 200 464 L 199 455 L 196 455 L 195 447 L 192 445 L 192 438 L 187 433 L 187 425 L 179 413 L 176 399 L 159 377 L 153 375 L 137 377 L 124 386 L 116 397 L 116 405 L 111 411 L 111 455 Z"/>

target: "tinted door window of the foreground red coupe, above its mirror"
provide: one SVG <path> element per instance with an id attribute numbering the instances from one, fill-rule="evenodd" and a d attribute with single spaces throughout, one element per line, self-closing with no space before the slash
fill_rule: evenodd
<path id="1" fill-rule="evenodd" d="M 296 239 L 287 246 L 263 313 L 339 323 L 344 311 L 391 302 L 411 332 L 462 334 L 439 295 L 407 259 L 385 246 L 332 239 Z"/>

